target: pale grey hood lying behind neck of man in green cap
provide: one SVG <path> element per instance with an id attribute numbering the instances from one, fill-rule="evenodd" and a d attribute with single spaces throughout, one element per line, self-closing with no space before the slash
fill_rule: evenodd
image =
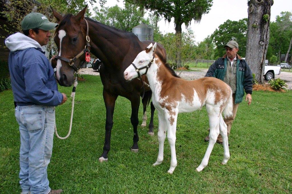
<path id="1" fill-rule="evenodd" d="M 42 50 L 38 42 L 20 32 L 8 36 L 5 40 L 5 45 L 11 52 L 25 50 L 27 48 L 40 48 Z"/>

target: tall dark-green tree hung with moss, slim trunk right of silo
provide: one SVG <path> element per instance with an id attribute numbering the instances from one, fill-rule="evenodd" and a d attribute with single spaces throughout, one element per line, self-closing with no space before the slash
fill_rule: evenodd
<path id="1" fill-rule="evenodd" d="M 186 27 L 194 22 L 200 22 L 202 15 L 211 9 L 213 0 L 126 0 L 136 3 L 138 6 L 155 11 L 163 16 L 168 22 L 174 18 L 175 34 L 178 36 L 178 45 L 181 44 L 182 24 Z M 178 46 L 179 49 L 180 46 Z M 180 66 L 180 55 L 176 57 Z"/>

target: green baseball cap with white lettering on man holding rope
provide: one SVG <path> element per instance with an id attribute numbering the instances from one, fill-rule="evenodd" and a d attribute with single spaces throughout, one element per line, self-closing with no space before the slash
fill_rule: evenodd
<path id="1" fill-rule="evenodd" d="M 21 27 L 23 30 L 39 28 L 47 31 L 52 30 L 57 26 L 58 24 L 49 22 L 48 18 L 41 13 L 29 13 L 21 22 Z"/>

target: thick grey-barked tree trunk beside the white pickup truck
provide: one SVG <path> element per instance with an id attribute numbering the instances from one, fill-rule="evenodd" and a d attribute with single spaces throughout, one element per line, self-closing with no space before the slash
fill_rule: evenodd
<path id="1" fill-rule="evenodd" d="M 255 79 L 260 84 L 264 83 L 265 59 L 269 44 L 269 27 L 271 6 L 273 0 L 248 1 L 248 29 L 246 43 L 246 62 Z"/>

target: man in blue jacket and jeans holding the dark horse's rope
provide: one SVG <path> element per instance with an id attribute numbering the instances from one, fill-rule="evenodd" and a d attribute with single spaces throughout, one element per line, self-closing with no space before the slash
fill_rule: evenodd
<path id="1" fill-rule="evenodd" d="M 58 91 L 54 70 L 42 50 L 58 24 L 41 13 L 29 13 L 21 23 L 23 33 L 5 40 L 10 50 L 8 64 L 20 131 L 20 187 L 22 194 L 53 194 L 47 177 L 53 149 L 55 106 L 67 97 Z"/>

